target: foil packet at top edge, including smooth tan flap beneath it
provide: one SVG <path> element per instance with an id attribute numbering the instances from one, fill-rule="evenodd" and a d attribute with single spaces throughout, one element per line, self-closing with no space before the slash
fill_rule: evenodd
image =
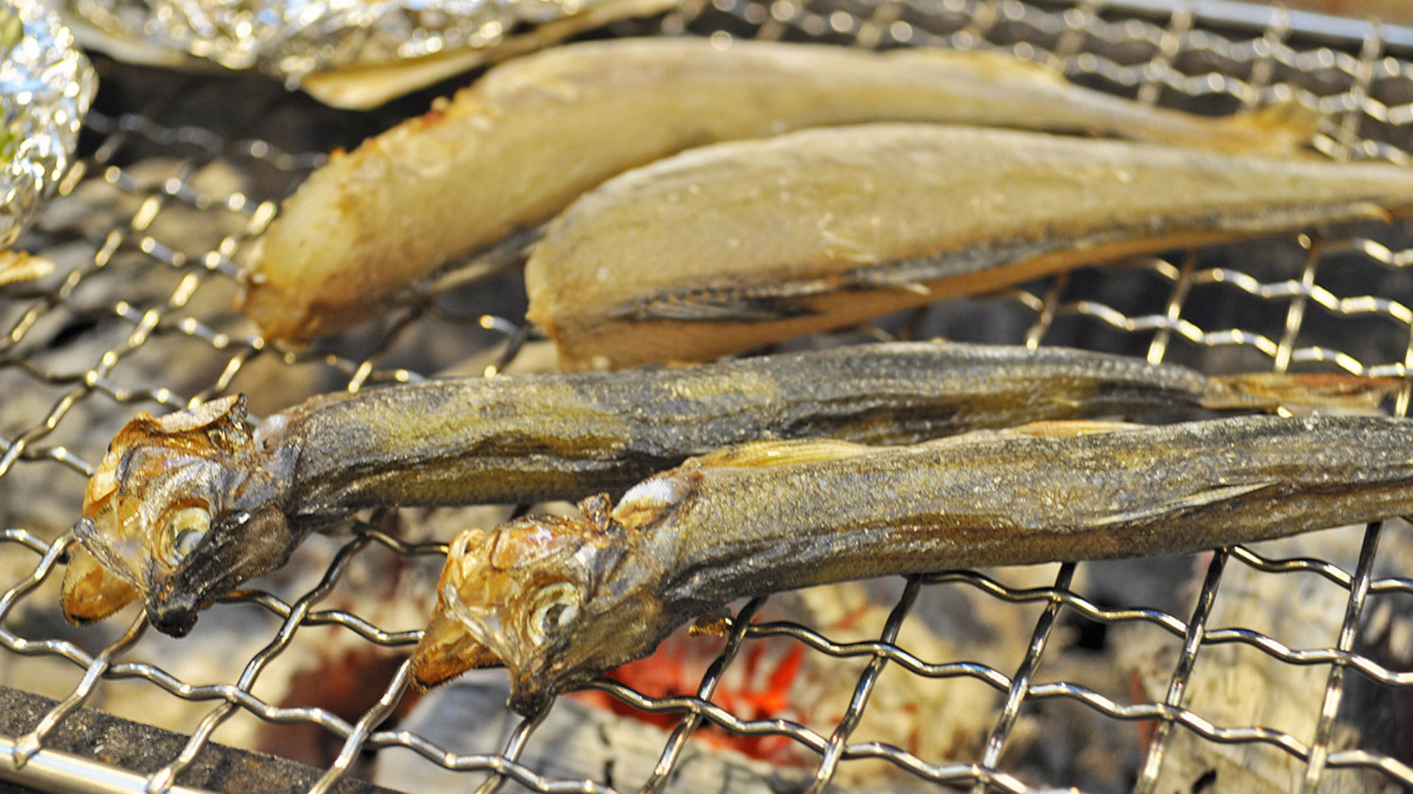
<path id="1" fill-rule="evenodd" d="M 117 58 L 187 65 L 202 59 L 259 69 L 291 88 L 308 78 L 360 72 L 329 105 L 370 107 L 483 62 L 526 27 L 555 31 L 540 44 L 591 24 L 663 10 L 671 0 L 66 0 L 86 45 Z M 471 54 L 472 58 L 466 58 Z M 178 59 L 174 61 L 172 57 Z M 427 68 L 428 61 L 442 64 Z M 445 64 L 455 59 L 454 64 Z M 421 62 L 389 78 L 377 68 Z M 372 88 L 370 88 L 372 86 Z"/>

